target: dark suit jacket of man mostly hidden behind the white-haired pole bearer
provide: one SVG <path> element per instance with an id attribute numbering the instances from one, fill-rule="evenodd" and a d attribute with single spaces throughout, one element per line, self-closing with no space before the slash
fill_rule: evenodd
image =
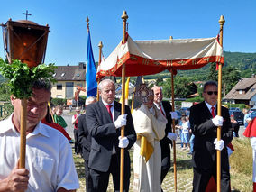
<path id="1" fill-rule="evenodd" d="M 78 142 L 82 146 L 83 159 L 89 160 L 91 136 L 87 129 L 86 114 L 82 114 L 78 117 Z"/>

